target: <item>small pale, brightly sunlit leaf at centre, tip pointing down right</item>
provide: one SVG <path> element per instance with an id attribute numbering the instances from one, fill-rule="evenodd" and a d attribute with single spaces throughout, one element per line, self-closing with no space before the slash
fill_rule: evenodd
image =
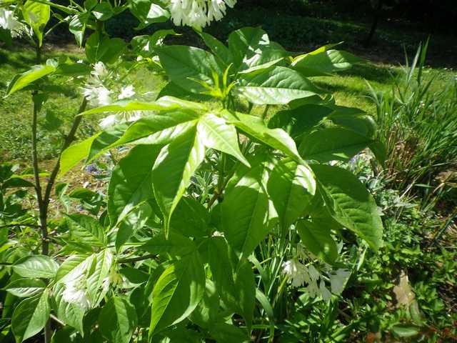
<path id="1" fill-rule="evenodd" d="M 197 131 L 207 148 L 225 152 L 250 166 L 239 149 L 235 126 L 227 124 L 224 118 L 211 113 L 206 114 L 199 120 Z"/>

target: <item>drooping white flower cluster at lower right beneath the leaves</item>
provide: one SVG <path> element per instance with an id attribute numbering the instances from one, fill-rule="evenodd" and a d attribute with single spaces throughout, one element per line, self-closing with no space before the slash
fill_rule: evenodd
<path id="1" fill-rule="evenodd" d="M 326 287 L 323 275 L 318 272 L 316 267 L 313 264 L 306 266 L 299 261 L 299 259 L 303 260 L 308 257 L 301 244 L 298 244 L 296 252 L 296 258 L 282 264 L 283 274 L 288 277 L 293 287 L 301 287 L 306 284 L 306 292 L 308 292 L 310 297 L 320 295 L 325 301 L 331 298 L 332 293 L 341 294 L 343 292 L 351 272 L 346 269 L 338 269 L 335 273 L 331 273 L 329 277 L 331 284 L 330 292 Z"/>

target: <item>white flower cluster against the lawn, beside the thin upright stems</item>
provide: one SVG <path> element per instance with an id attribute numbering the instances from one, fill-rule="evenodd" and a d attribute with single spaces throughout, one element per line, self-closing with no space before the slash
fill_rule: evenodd
<path id="1" fill-rule="evenodd" d="M 91 76 L 86 85 L 83 87 L 83 94 L 86 96 L 86 99 L 89 101 L 91 106 L 107 106 L 114 102 L 113 99 L 123 100 L 130 99 L 133 97 L 136 92 L 134 91 L 134 86 L 129 85 L 121 87 L 118 96 L 114 96 L 113 91 L 106 88 L 104 81 L 108 79 L 110 73 L 103 62 L 97 62 L 94 65 L 94 70 L 91 71 Z M 125 111 L 118 112 L 116 114 L 111 114 L 106 116 L 104 119 L 101 119 L 99 126 L 102 129 L 107 129 L 110 126 L 116 124 L 136 121 L 141 117 L 141 111 Z"/>

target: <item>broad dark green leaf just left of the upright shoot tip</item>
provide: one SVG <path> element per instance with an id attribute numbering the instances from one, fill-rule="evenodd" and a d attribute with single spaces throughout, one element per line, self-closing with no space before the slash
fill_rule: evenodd
<path id="1" fill-rule="evenodd" d="M 193 93 L 206 91 L 197 79 L 214 85 L 212 74 L 222 74 L 214 56 L 193 46 L 162 46 L 156 49 L 161 65 L 169 79 L 175 84 Z"/>

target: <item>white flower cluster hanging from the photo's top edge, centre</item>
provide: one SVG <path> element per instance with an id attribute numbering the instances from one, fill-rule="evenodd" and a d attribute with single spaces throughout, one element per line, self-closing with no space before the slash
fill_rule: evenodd
<path id="1" fill-rule="evenodd" d="M 236 0 L 169 0 L 169 10 L 175 25 L 201 29 L 211 21 L 221 20 L 226 15 L 227 6 L 235 4 Z"/>

